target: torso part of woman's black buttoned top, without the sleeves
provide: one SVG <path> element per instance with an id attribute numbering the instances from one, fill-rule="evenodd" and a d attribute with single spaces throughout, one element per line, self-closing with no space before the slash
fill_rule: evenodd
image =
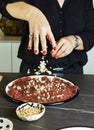
<path id="1" fill-rule="evenodd" d="M 61 37 L 79 34 L 85 29 L 85 0 L 65 0 L 62 8 L 57 0 L 31 0 L 31 4 L 39 8 L 47 17 L 56 41 Z M 41 53 L 36 56 L 33 51 L 27 50 L 28 23 L 25 23 L 22 44 L 19 48 L 18 57 L 26 60 L 27 63 L 38 65 L 41 60 Z M 76 62 L 82 65 L 86 63 L 86 53 L 83 51 L 73 51 L 69 56 L 60 59 L 51 57 L 51 45 L 48 42 L 48 53 L 46 60 L 49 66 L 71 66 Z M 33 58 L 34 60 L 33 60 Z"/>

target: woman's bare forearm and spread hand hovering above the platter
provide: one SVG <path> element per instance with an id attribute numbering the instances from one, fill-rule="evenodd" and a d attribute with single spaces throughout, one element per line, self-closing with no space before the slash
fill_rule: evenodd
<path id="1" fill-rule="evenodd" d="M 29 23 L 29 44 L 28 50 L 32 49 L 34 44 L 34 53 L 39 53 L 39 41 L 42 46 L 42 53 L 45 55 L 47 53 L 47 43 L 49 40 L 52 48 L 56 49 L 56 42 L 51 31 L 48 20 L 45 15 L 36 7 L 27 4 L 25 2 L 13 2 L 7 4 L 6 10 L 11 16 L 17 19 L 28 21 Z"/>

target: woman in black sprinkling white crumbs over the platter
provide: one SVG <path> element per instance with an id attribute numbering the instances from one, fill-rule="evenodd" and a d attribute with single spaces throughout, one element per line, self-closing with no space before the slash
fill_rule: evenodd
<path id="1" fill-rule="evenodd" d="M 44 59 L 53 73 L 83 74 L 94 45 L 92 0 L 3 0 L 1 13 L 24 21 L 20 72 L 34 73 Z"/>

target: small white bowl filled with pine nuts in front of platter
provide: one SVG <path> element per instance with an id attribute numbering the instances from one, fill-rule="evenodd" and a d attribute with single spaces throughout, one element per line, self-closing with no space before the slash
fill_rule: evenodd
<path id="1" fill-rule="evenodd" d="M 17 116 L 24 121 L 35 121 L 45 113 L 45 106 L 40 103 L 23 103 L 16 109 Z"/>

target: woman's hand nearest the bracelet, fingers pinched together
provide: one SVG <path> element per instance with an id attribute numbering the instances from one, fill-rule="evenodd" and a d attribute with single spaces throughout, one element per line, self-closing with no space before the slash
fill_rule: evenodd
<path id="1" fill-rule="evenodd" d="M 66 36 L 57 42 L 57 49 L 52 50 L 51 55 L 54 58 L 62 58 L 69 55 L 75 47 L 73 36 Z"/>

